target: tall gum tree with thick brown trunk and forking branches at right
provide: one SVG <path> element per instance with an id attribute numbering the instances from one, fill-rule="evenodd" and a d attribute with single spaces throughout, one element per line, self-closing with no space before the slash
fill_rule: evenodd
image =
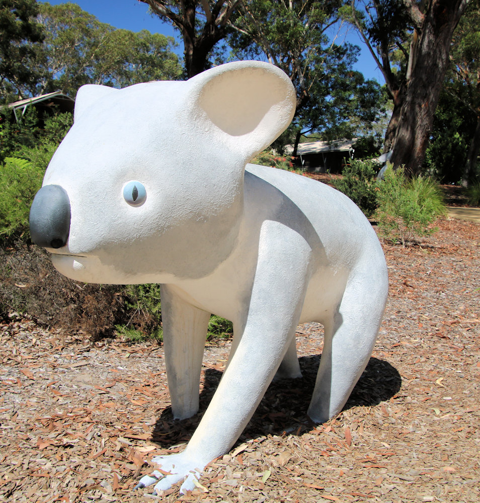
<path id="1" fill-rule="evenodd" d="M 393 100 L 384 149 L 393 150 L 394 166 L 404 165 L 408 174 L 419 174 L 449 65 L 453 33 L 468 0 L 351 3 L 353 23 L 382 71 Z M 397 71 L 394 49 L 404 59 Z"/>

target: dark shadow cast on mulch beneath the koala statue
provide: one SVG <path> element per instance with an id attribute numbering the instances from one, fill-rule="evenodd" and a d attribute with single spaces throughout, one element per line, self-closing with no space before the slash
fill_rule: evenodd
<path id="1" fill-rule="evenodd" d="M 312 355 L 299 359 L 302 377 L 282 379 L 270 384 L 241 441 L 256 439 L 266 434 L 282 435 L 284 432 L 299 434 L 314 428 L 307 417 L 315 384 L 320 356 Z M 188 442 L 196 430 L 203 413 L 215 392 L 222 373 L 205 370 L 205 380 L 200 393 L 200 410 L 186 420 L 174 420 L 171 407 L 162 411 L 152 432 L 152 441 L 162 447 Z M 361 378 L 353 389 L 344 410 L 355 406 L 374 406 L 388 400 L 401 389 L 402 378 L 398 371 L 384 360 L 370 358 Z"/>

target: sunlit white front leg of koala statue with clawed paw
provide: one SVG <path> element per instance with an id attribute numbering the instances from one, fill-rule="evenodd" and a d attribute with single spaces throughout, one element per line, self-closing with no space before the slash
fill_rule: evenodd
<path id="1" fill-rule="evenodd" d="M 310 275 L 311 250 L 301 236 L 278 222 L 265 222 L 262 234 L 236 351 L 185 451 L 153 458 L 162 470 L 170 472 L 155 485 L 157 491 L 185 477 L 181 491 L 194 489 L 195 470 L 203 470 L 212 459 L 228 452 L 250 421 L 295 336 Z M 147 476 L 140 483 L 153 480 Z"/>

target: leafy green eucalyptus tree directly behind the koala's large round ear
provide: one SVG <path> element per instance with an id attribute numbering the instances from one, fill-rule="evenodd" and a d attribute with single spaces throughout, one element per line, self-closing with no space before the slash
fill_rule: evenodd
<path id="1" fill-rule="evenodd" d="M 250 0 L 232 16 L 228 43 L 239 58 L 266 59 L 293 82 L 295 149 L 301 134 L 351 138 L 382 112 L 380 87 L 353 70 L 359 48 L 341 41 L 342 0 Z"/>

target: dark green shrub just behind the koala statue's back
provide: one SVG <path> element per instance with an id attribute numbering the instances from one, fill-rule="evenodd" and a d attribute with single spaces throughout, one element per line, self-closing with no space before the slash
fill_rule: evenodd
<path id="1" fill-rule="evenodd" d="M 351 159 L 343 169 L 343 177 L 334 180 L 334 187 L 348 196 L 370 217 L 377 206 L 377 164 L 374 161 Z"/>

